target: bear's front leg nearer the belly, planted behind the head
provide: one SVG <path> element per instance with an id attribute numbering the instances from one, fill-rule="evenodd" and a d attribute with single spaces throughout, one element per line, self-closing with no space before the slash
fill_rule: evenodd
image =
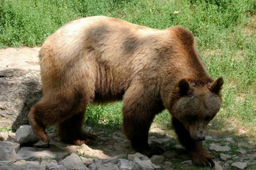
<path id="1" fill-rule="evenodd" d="M 137 152 L 151 157 L 161 155 L 163 149 L 148 145 L 148 131 L 154 116 L 163 110 L 161 100 L 145 85 L 135 83 L 124 94 L 123 132 Z"/>

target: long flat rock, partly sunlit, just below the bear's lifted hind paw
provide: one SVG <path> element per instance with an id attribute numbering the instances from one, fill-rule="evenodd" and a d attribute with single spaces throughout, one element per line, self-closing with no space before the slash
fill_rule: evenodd
<path id="1" fill-rule="evenodd" d="M 17 159 L 24 159 L 26 161 L 35 161 L 49 158 L 55 159 L 58 158 L 58 155 L 49 149 L 36 149 L 32 147 L 22 147 L 17 154 Z"/>

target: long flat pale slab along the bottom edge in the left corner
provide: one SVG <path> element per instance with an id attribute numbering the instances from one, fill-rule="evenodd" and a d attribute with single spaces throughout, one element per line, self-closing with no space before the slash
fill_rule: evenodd
<path id="1" fill-rule="evenodd" d="M 45 170 L 45 166 L 39 165 L 39 162 L 23 160 L 15 163 L 0 163 L 0 170 Z"/>

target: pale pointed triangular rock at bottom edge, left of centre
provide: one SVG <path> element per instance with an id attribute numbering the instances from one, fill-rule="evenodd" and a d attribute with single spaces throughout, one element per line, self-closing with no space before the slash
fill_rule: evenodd
<path id="1" fill-rule="evenodd" d="M 68 170 L 88 170 L 88 168 L 83 164 L 80 157 L 75 153 L 67 156 L 65 159 L 60 161 L 59 164 L 63 165 Z"/>

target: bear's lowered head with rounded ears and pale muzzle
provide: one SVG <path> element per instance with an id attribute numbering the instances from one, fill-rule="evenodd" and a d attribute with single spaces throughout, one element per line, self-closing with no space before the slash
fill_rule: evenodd
<path id="1" fill-rule="evenodd" d="M 181 79 L 171 94 L 170 113 L 195 141 L 205 140 L 207 125 L 219 112 L 222 77 L 215 81 Z"/>

